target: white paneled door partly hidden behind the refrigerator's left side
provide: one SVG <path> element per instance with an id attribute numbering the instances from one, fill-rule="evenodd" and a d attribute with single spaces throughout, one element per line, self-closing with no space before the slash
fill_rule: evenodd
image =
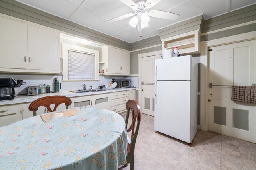
<path id="1" fill-rule="evenodd" d="M 155 60 L 161 59 L 161 55 L 142 58 L 141 74 L 141 112 L 154 116 L 155 113 Z"/>

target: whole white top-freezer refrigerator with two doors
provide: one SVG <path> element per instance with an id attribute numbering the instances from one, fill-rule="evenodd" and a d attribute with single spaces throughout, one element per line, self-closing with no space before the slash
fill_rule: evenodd
<path id="1" fill-rule="evenodd" d="M 198 62 L 191 55 L 155 62 L 155 130 L 192 143 L 197 132 Z"/>

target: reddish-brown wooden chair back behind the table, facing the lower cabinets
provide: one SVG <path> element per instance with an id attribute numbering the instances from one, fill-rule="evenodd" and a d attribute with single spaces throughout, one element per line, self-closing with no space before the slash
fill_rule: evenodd
<path id="1" fill-rule="evenodd" d="M 44 106 L 48 109 L 48 111 L 53 112 L 53 111 L 56 111 L 57 107 L 62 103 L 65 103 L 68 109 L 68 106 L 71 104 L 71 100 L 70 98 L 65 96 L 47 96 L 47 97 L 39 98 L 34 102 L 32 102 L 29 105 L 28 109 L 30 111 L 33 111 L 33 116 L 36 116 L 36 111 L 38 110 L 39 106 Z M 53 110 L 50 108 L 51 104 L 55 105 Z"/>

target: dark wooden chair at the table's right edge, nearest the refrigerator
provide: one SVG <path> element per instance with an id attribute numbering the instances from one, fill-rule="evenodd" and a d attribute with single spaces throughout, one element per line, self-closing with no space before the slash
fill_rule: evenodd
<path id="1" fill-rule="evenodd" d="M 131 134 L 130 141 L 128 140 L 128 146 L 127 146 L 128 155 L 126 156 L 126 160 L 127 160 L 127 163 L 130 163 L 130 170 L 133 170 L 134 169 L 134 149 L 135 149 L 135 143 L 136 143 L 139 127 L 140 127 L 140 106 L 136 100 L 128 100 L 128 102 L 126 103 L 126 109 L 127 109 L 127 114 L 125 119 L 126 127 L 128 124 L 130 111 L 132 112 L 132 123 L 130 127 L 127 129 L 127 132 L 132 131 L 132 134 Z M 135 129 L 136 120 L 137 120 L 137 125 Z M 125 164 L 125 166 L 127 166 L 127 164 Z"/>

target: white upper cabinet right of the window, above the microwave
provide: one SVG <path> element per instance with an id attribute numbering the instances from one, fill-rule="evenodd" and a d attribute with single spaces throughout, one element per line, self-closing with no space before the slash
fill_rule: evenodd
<path id="1" fill-rule="evenodd" d="M 102 47 L 102 69 L 106 75 L 130 75 L 130 52 L 113 47 Z"/>

